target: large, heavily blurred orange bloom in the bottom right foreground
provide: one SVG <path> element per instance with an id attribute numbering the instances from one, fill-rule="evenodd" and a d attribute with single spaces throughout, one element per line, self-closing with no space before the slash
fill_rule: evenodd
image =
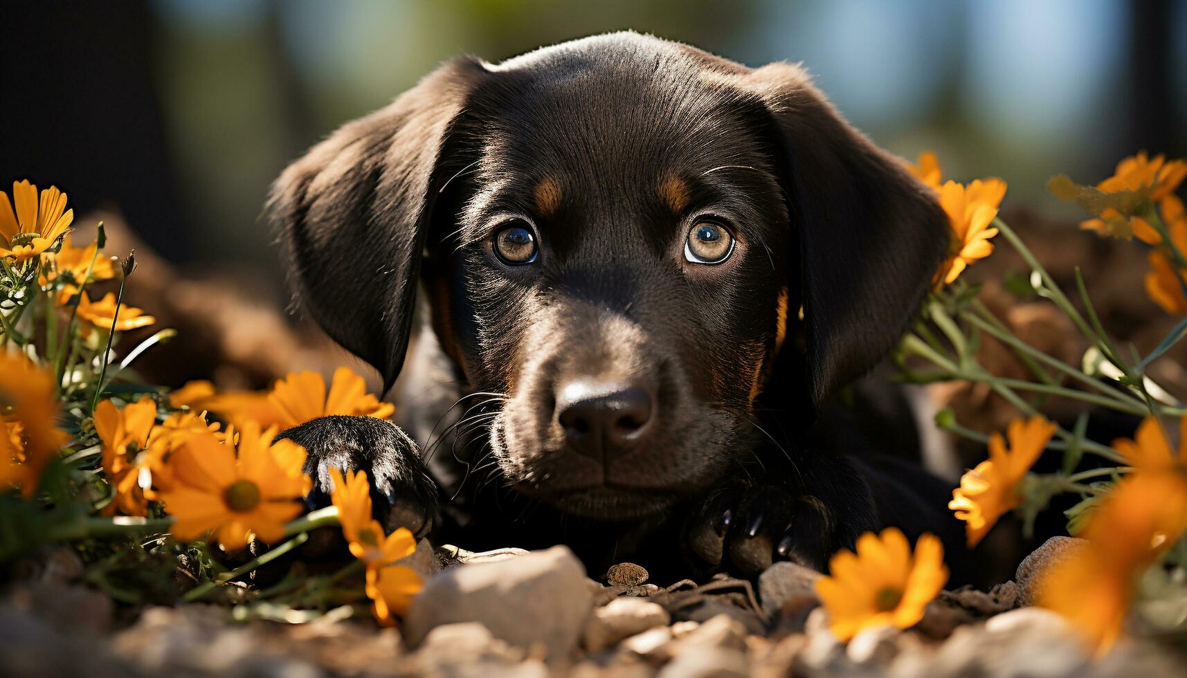
<path id="1" fill-rule="evenodd" d="M 1098 657 L 1105 654 L 1121 635 L 1142 574 L 1185 530 L 1187 476 L 1140 470 L 1123 479 L 1090 519 L 1087 544 L 1040 575 L 1039 604 L 1067 617 Z"/>

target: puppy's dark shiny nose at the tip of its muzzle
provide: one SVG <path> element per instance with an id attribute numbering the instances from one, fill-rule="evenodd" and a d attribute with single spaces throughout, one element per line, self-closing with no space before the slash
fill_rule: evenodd
<path id="1" fill-rule="evenodd" d="M 557 418 L 575 450 L 611 460 L 650 429 L 654 400 L 640 385 L 571 381 L 557 394 Z"/>

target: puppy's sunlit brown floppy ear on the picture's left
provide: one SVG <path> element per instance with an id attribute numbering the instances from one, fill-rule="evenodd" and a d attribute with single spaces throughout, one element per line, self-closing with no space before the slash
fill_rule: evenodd
<path id="1" fill-rule="evenodd" d="M 313 146 L 272 188 L 294 300 L 379 369 L 385 389 L 404 363 L 443 147 L 485 75 L 476 59 L 446 63 Z"/>

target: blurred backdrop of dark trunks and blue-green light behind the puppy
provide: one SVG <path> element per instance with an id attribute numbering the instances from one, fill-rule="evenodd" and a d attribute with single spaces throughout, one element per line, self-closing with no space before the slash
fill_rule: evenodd
<path id="1" fill-rule="evenodd" d="M 621 28 L 750 65 L 804 62 L 882 146 L 935 150 L 952 178 L 1005 178 L 1007 215 L 1040 258 L 1061 275 L 1087 266 L 1111 327 L 1156 343 L 1166 316 L 1141 292 L 1142 251 L 1075 232 L 1077 209 L 1045 183 L 1094 183 L 1140 148 L 1187 154 L 1187 0 L 5 2 L 0 185 L 55 183 L 77 227 L 103 210 L 109 252 L 141 241 L 147 289 L 131 298 L 190 344 L 157 351 L 152 378 L 264 386 L 332 363 L 280 313 L 259 217 L 281 169 L 451 56 L 500 61 Z M 1015 265 L 999 249 L 976 275 Z M 1047 335 L 1055 348 L 1067 336 Z"/>

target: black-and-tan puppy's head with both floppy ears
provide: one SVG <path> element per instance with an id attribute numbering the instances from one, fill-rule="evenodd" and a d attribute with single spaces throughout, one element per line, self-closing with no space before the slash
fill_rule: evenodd
<path id="1" fill-rule="evenodd" d="M 633 33 L 442 66 L 290 166 L 273 214 L 301 305 L 388 385 L 423 279 L 470 387 L 506 395 L 506 479 L 604 518 L 747 461 L 760 412 L 806 426 L 947 245 L 798 66 Z"/>

